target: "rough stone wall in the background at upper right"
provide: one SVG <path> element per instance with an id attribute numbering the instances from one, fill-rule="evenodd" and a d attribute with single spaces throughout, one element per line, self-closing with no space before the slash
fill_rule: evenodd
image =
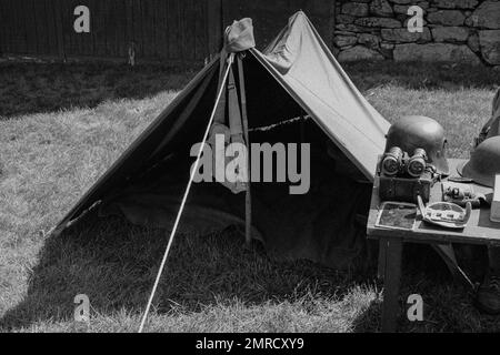
<path id="1" fill-rule="evenodd" d="M 410 6 L 423 31 L 410 32 Z M 333 50 L 339 61 L 452 61 L 500 69 L 500 0 L 338 0 Z"/>

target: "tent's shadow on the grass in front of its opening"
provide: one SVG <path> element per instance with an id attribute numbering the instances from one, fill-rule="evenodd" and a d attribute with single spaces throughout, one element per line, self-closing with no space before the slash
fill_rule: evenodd
<path id="1" fill-rule="evenodd" d="M 0 328 L 34 322 L 72 322 L 77 294 L 92 311 L 140 314 L 151 292 L 167 244 L 161 230 L 146 230 L 113 217 L 84 216 L 79 225 L 46 241 L 24 300 L 0 320 Z M 368 272 L 338 272 L 307 261 L 276 262 L 256 242 L 244 248 L 236 229 L 208 236 L 178 235 L 153 306 L 200 312 L 238 300 L 244 305 L 290 303 L 307 297 L 342 297 Z"/>

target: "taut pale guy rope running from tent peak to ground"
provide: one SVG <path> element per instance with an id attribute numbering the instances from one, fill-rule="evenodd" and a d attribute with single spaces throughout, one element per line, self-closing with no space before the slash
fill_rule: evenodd
<path id="1" fill-rule="evenodd" d="M 144 328 L 146 320 L 148 318 L 148 314 L 149 314 L 149 311 L 151 308 L 151 304 L 152 304 L 152 301 L 154 298 L 154 294 L 157 292 L 158 284 L 160 283 L 161 274 L 163 272 L 164 264 L 167 263 L 167 258 L 169 256 L 170 248 L 172 246 L 173 237 L 176 235 L 177 227 L 179 226 L 180 217 L 182 216 L 182 211 L 184 210 L 186 201 L 188 200 L 189 191 L 191 190 L 191 185 L 192 185 L 192 181 L 194 179 L 194 174 L 196 174 L 196 172 L 198 170 L 198 164 L 199 164 L 200 159 L 201 159 L 201 153 L 203 152 L 204 142 L 207 141 L 207 138 L 209 135 L 210 128 L 211 128 L 212 122 L 213 122 L 213 116 L 216 115 L 216 110 L 217 110 L 217 106 L 219 104 L 220 97 L 222 94 L 222 91 L 224 90 L 226 80 L 228 79 L 229 70 L 231 69 L 233 59 L 234 59 L 234 53 L 230 53 L 229 58 L 228 58 L 228 65 L 227 65 L 227 69 L 226 69 L 226 72 L 224 72 L 221 85 L 219 88 L 219 93 L 217 94 L 216 104 L 213 105 L 212 113 L 210 114 L 210 120 L 209 120 L 209 122 L 207 124 L 207 129 L 204 131 L 203 139 L 202 139 L 201 144 L 200 144 L 200 149 L 198 151 L 198 155 L 197 155 L 197 160 L 194 162 L 194 166 L 191 170 L 191 175 L 189 178 L 189 182 L 188 182 L 188 185 L 186 187 L 184 195 L 182 197 L 182 202 L 181 202 L 181 205 L 179 207 L 179 212 L 177 213 L 176 222 L 173 223 L 173 229 L 170 232 L 169 242 L 167 244 L 167 248 L 164 251 L 163 258 L 161 260 L 160 270 L 158 271 L 157 278 L 154 281 L 154 285 L 153 285 L 153 288 L 151 291 L 151 295 L 149 296 L 148 305 L 146 306 L 146 311 L 144 311 L 144 314 L 142 316 L 141 325 L 139 327 L 139 333 L 142 333 L 142 331 Z"/>

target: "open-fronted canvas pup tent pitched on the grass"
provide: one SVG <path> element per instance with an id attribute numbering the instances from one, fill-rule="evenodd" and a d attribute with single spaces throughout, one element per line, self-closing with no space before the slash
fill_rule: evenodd
<path id="1" fill-rule="evenodd" d="M 366 225 L 357 219 L 368 212 L 377 155 L 384 148 L 389 123 L 357 90 L 303 12 L 292 16 L 263 52 L 249 48 L 246 36 L 229 38 L 234 26 L 228 28 L 220 57 L 80 199 L 56 233 L 97 204 L 102 215 L 171 227 L 189 179 L 190 148 L 202 140 L 221 72 L 234 53 L 241 55 L 241 67 L 233 65 L 234 78 L 244 72 L 244 83 L 237 80 L 236 85 L 238 92 L 244 89 L 250 141 L 307 141 L 312 152 L 309 193 L 289 195 L 286 184 L 252 183 L 252 236 L 278 256 L 349 265 L 364 244 Z M 204 233 L 242 223 L 243 194 L 217 183 L 198 183 L 189 194 L 180 231 Z"/>

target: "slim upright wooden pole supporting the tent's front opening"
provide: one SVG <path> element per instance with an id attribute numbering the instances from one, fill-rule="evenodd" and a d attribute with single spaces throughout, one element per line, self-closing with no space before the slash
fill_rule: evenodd
<path id="1" fill-rule="evenodd" d="M 247 143 L 247 190 L 244 192 L 244 243 L 250 245 L 252 240 L 252 195 L 251 195 L 251 171 L 250 171 L 250 139 L 248 134 L 248 115 L 247 115 L 247 94 L 244 91 L 244 73 L 243 61 L 244 53 L 239 53 L 237 57 L 238 75 L 240 78 L 240 98 L 241 98 L 241 120 L 243 126 L 244 142 Z"/>

